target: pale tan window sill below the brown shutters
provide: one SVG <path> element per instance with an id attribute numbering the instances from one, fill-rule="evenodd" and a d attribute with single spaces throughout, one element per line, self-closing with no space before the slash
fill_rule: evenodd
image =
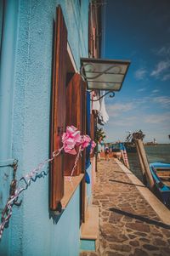
<path id="1" fill-rule="evenodd" d="M 65 176 L 65 193 L 63 198 L 61 199 L 62 209 L 64 210 L 67 204 L 70 202 L 71 197 L 74 192 L 77 190 L 78 185 L 81 183 L 84 174 L 80 174 L 78 176 L 71 177 L 71 181 L 69 180 L 69 176 Z"/>

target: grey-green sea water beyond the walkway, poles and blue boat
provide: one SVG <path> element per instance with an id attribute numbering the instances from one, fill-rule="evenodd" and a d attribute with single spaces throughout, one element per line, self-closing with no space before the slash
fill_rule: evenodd
<path id="1" fill-rule="evenodd" d="M 148 162 L 166 162 L 170 163 L 170 144 L 166 145 L 147 145 L 144 146 Z M 127 153 L 130 169 L 141 181 L 142 174 L 139 166 L 139 157 L 137 153 Z"/>

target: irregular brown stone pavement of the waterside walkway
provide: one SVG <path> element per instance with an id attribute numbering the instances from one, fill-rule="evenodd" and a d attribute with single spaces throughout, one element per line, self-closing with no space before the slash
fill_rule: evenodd
<path id="1" fill-rule="evenodd" d="M 99 207 L 97 252 L 81 256 L 170 256 L 170 228 L 111 159 L 98 162 L 93 204 Z"/>

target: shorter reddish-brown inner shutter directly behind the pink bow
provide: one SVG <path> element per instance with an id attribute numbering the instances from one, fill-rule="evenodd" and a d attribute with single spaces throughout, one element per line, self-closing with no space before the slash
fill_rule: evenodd
<path id="1" fill-rule="evenodd" d="M 66 125 L 73 125 L 81 134 L 85 132 L 84 115 L 83 113 L 83 82 L 80 74 L 75 74 L 66 88 Z M 71 170 L 74 166 L 76 156 L 65 153 L 65 175 L 71 175 Z M 77 168 L 73 175 L 82 173 L 82 158 L 77 163 Z"/>

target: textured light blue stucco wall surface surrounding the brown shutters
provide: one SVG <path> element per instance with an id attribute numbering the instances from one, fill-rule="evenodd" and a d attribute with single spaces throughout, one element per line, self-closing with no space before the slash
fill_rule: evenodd
<path id="1" fill-rule="evenodd" d="M 3 122 L 8 117 L 8 128 L 0 131 L 0 138 L 7 139 L 1 144 L 0 160 L 17 158 L 18 178 L 48 157 L 53 19 L 58 4 L 79 69 L 80 57 L 88 57 L 88 0 L 7 0 L 5 23 L 13 23 L 12 44 L 7 39 L 3 42 L 7 45 L 3 49 L 6 62 L 1 72 L 1 88 L 8 97 L 1 102 L 0 118 Z M 8 38 L 8 27 L 6 31 Z M 5 109 L 4 105 L 8 107 Z M 3 176 L 4 170 L 7 171 L 1 168 Z M 8 197 L 10 179 L 9 175 L 7 180 L 0 180 L 0 187 L 2 183 L 4 186 L 1 208 Z M 0 255 L 78 255 L 79 188 L 57 223 L 48 213 L 48 176 L 32 183 L 21 197 L 22 205 L 14 206 L 8 229 L 4 230 Z"/>

